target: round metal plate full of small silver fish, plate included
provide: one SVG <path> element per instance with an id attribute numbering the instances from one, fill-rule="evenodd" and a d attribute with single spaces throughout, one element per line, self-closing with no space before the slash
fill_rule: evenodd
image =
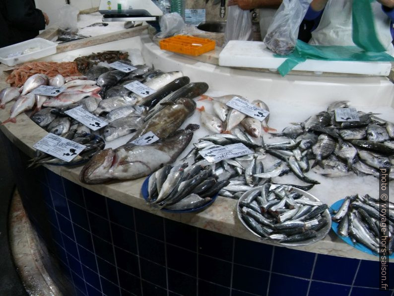
<path id="1" fill-rule="evenodd" d="M 287 185 L 265 183 L 246 191 L 238 200 L 237 214 L 253 234 L 285 246 L 315 243 L 331 227 L 326 204 L 304 190 Z"/>

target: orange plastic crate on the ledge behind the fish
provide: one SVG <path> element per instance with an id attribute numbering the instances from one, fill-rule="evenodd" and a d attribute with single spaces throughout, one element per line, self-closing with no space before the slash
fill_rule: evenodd
<path id="1" fill-rule="evenodd" d="M 199 56 L 215 49 L 213 40 L 186 35 L 176 35 L 159 43 L 161 49 L 191 56 Z"/>

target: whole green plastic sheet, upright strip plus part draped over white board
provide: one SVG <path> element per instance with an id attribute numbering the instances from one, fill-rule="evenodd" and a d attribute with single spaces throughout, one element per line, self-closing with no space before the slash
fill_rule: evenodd
<path id="1" fill-rule="evenodd" d="M 377 38 L 374 15 L 371 3 L 374 0 L 353 0 L 353 42 L 357 46 L 327 46 L 311 45 L 297 40 L 294 52 L 287 55 L 279 67 L 282 76 L 288 74 L 299 63 L 306 59 L 324 61 L 365 61 L 365 62 L 393 62 L 394 58 L 385 53 L 386 49 Z M 280 55 L 274 57 L 283 58 Z"/>

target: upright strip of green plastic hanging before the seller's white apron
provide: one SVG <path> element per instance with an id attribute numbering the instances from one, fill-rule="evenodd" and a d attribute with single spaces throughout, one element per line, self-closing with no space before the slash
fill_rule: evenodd
<path id="1" fill-rule="evenodd" d="M 353 0 L 352 20 L 354 44 L 365 51 L 386 51 L 376 35 L 370 0 Z"/>

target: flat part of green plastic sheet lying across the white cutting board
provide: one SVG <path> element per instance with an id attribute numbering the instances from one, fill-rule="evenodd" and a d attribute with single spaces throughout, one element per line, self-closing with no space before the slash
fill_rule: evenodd
<path id="1" fill-rule="evenodd" d="M 283 58 L 280 55 L 274 55 Z M 311 45 L 297 40 L 294 52 L 279 67 L 282 76 L 288 74 L 295 66 L 306 59 L 324 61 L 365 61 L 365 62 L 394 62 L 394 57 L 386 52 L 366 52 L 357 46 Z"/>

